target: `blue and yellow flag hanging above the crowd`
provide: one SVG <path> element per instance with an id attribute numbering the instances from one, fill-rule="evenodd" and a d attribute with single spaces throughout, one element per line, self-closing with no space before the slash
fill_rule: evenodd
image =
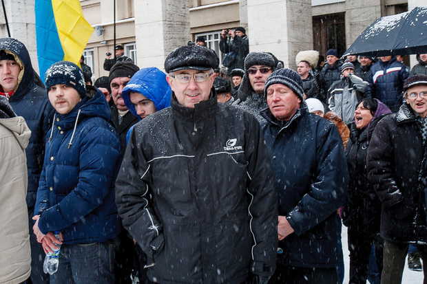
<path id="1" fill-rule="evenodd" d="M 83 17 L 79 0 L 36 0 L 37 57 L 40 77 L 58 61 L 79 59 L 94 28 Z"/>

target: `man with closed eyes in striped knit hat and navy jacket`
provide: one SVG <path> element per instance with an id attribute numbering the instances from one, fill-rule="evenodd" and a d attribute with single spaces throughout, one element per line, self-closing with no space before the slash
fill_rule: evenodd
<path id="1" fill-rule="evenodd" d="M 348 171 L 334 124 L 309 113 L 302 79 L 278 69 L 265 83 L 262 130 L 279 199 L 277 269 L 269 283 L 337 283 Z"/>

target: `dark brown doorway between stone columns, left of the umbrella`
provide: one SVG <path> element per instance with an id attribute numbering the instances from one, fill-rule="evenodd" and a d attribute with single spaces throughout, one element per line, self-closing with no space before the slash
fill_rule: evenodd
<path id="1" fill-rule="evenodd" d="M 344 13 L 313 17 L 313 47 L 323 56 L 333 48 L 338 56 L 346 51 L 346 28 Z"/>

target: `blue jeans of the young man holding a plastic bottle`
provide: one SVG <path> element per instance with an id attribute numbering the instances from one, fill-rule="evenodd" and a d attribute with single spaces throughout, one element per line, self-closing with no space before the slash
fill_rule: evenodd
<path id="1" fill-rule="evenodd" d="M 61 245 L 58 271 L 51 284 L 112 284 L 118 238 L 104 243 Z"/>

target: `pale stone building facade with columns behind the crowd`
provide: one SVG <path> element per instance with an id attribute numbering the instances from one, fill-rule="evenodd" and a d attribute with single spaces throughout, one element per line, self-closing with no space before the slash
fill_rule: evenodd
<path id="1" fill-rule="evenodd" d="M 379 17 L 425 6 L 424 1 L 80 0 L 85 19 L 95 28 L 83 55 L 94 79 L 108 74 L 103 62 L 107 52 L 114 52 L 115 44 L 123 45 L 125 55 L 139 67 L 163 69 L 171 50 L 205 36 L 208 47 L 222 59 L 221 30 L 242 26 L 247 30 L 251 52 L 272 52 L 285 67 L 295 68 L 295 55 L 300 50 L 325 54 L 335 48 L 342 54 Z M 0 34 L 8 36 L 6 14 L 11 36 L 27 45 L 38 70 L 34 0 L 4 2 Z M 415 64 L 415 59 L 410 63 Z"/>

